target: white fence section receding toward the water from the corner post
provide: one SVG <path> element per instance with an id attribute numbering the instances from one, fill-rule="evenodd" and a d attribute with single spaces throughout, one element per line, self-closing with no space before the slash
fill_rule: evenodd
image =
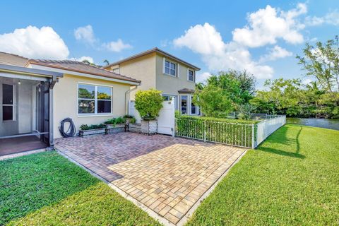
<path id="1" fill-rule="evenodd" d="M 256 124 L 256 145 L 255 148 L 265 139 L 270 136 L 274 131 L 286 124 L 286 116 L 281 115 L 273 119 L 268 119 Z"/>

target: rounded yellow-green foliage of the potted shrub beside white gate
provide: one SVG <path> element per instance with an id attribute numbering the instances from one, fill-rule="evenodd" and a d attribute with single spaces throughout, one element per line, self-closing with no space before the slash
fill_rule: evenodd
<path id="1" fill-rule="evenodd" d="M 159 90 L 139 90 L 136 92 L 135 107 L 142 119 L 152 120 L 159 116 L 163 100 Z"/>

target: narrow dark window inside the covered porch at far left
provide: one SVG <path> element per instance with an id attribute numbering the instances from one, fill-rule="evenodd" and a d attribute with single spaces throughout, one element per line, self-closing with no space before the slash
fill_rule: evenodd
<path id="1" fill-rule="evenodd" d="M 14 85 L 2 84 L 2 121 L 15 121 Z"/>

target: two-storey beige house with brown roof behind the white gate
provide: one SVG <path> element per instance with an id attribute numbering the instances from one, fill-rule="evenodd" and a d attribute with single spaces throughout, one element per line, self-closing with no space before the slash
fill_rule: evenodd
<path id="1" fill-rule="evenodd" d="M 141 81 L 141 85 L 131 91 L 131 100 L 134 100 L 137 90 L 155 88 L 162 91 L 165 100 L 174 100 L 175 108 L 182 114 L 199 114 L 198 107 L 192 102 L 196 71 L 200 70 L 197 66 L 154 48 L 104 68 Z"/>

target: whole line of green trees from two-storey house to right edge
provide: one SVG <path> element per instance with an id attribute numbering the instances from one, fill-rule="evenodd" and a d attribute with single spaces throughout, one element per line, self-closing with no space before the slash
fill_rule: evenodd
<path id="1" fill-rule="evenodd" d="M 307 43 L 299 65 L 311 82 L 300 78 L 266 80 L 256 90 L 256 78 L 248 71 L 220 71 L 206 83 L 196 84 L 194 103 L 208 117 L 227 117 L 232 111 L 286 114 L 287 117 L 339 118 L 338 37 Z"/>

